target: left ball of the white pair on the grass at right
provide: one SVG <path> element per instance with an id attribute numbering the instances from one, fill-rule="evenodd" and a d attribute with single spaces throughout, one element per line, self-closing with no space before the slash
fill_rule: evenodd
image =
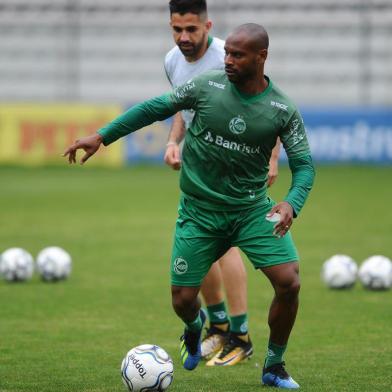
<path id="1" fill-rule="evenodd" d="M 334 255 L 323 264 L 321 278 L 331 289 L 347 289 L 355 284 L 358 267 L 346 255 Z"/>

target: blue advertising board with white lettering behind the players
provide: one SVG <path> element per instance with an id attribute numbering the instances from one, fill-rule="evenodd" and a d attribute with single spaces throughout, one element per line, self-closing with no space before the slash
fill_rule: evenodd
<path id="1" fill-rule="evenodd" d="M 392 108 L 302 108 L 313 159 L 326 163 L 392 163 Z M 163 163 L 170 121 L 127 137 L 129 163 Z M 282 149 L 281 159 L 287 159 Z"/>

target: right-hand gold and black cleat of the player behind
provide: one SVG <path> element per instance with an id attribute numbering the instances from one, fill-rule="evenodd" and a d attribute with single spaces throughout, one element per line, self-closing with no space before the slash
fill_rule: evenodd
<path id="1" fill-rule="evenodd" d="M 223 348 L 207 362 L 207 366 L 233 366 L 253 354 L 252 342 L 245 342 L 234 334 L 229 334 Z"/>

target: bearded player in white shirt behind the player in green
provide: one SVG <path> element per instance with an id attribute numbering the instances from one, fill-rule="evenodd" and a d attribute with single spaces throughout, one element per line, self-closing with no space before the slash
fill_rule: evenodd
<path id="1" fill-rule="evenodd" d="M 224 41 L 211 37 L 212 23 L 205 0 L 171 0 L 170 26 L 176 46 L 165 57 L 165 72 L 173 87 L 213 69 L 224 69 Z M 178 170 L 181 165 L 179 143 L 194 113 L 176 113 L 169 134 L 165 162 Z M 277 163 L 273 162 L 273 167 Z M 227 296 L 230 319 L 222 292 Z M 210 321 L 201 345 L 207 366 L 235 365 L 253 353 L 248 334 L 247 276 L 238 248 L 231 248 L 214 263 L 201 286 Z"/>

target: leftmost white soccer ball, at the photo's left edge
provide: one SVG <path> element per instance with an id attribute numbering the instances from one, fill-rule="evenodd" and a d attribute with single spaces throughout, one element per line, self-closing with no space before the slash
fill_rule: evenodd
<path id="1" fill-rule="evenodd" d="M 21 282 L 32 277 L 33 257 L 22 248 L 7 249 L 0 258 L 0 275 L 8 282 Z"/>

